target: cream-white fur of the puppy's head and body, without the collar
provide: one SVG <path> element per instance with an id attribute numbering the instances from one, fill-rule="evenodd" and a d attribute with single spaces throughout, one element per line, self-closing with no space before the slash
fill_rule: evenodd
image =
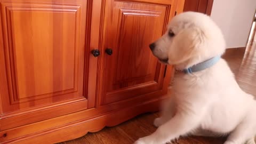
<path id="1" fill-rule="evenodd" d="M 182 70 L 223 54 L 226 44 L 210 17 L 185 12 L 150 47 L 159 60 Z M 256 101 L 240 89 L 225 60 L 196 73 L 175 74 L 169 96 L 155 119 L 158 129 L 136 144 L 162 144 L 187 134 L 229 135 L 225 144 L 254 143 Z"/>

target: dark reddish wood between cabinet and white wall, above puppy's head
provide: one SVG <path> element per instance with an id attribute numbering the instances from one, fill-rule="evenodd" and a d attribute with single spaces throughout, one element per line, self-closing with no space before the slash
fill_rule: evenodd
<path id="1" fill-rule="evenodd" d="M 213 0 L 186 0 L 183 11 L 195 11 L 211 15 Z"/>

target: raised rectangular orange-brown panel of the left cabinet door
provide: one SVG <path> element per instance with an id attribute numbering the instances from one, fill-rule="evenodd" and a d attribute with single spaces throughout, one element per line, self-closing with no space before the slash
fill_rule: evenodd
<path id="1" fill-rule="evenodd" d="M 75 94 L 78 90 L 76 10 L 44 10 L 7 8 L 13 67 L 9 74 L 14 89 L 11 103 L 57 98 L 54 95 L 59 94 L 62 95 L 59 100 L 63 100 L 65 93 L 72 93 L 73 97 L 82 95 Z"/>

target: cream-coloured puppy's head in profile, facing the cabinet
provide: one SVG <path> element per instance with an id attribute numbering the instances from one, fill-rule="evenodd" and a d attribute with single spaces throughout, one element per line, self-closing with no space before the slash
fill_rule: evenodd
<path id="1" fill-rule="evenodd" d="M 166 33 L 149 45 L 161 62 L 188 68 L 225 52 L 221 30 L 205 14 L 184 12 L 169 23 Z"/>

